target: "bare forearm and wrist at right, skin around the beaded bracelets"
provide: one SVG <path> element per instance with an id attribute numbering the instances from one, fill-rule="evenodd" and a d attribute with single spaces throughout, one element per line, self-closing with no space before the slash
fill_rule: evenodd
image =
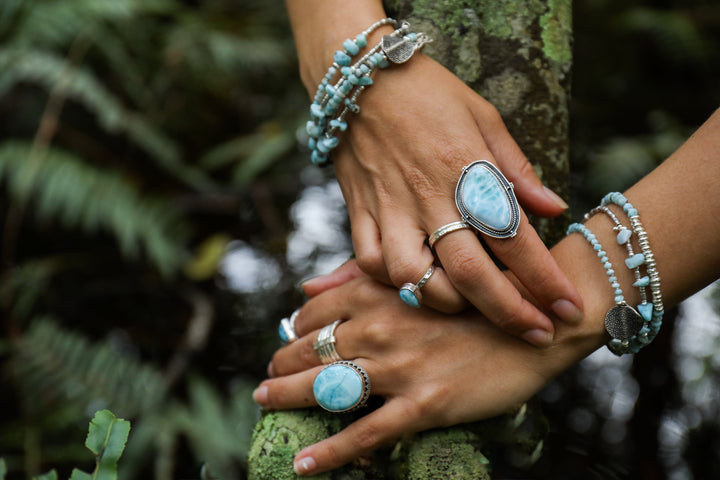
<path id="1" fill-rule="evenodd" d="M 648 233 L 666 308 L 719 276 L 719 182 L 720 111 L 716 111 L 670 158 L 625 193 Z M 615 212 L 625 218 L 619 209 Z M 624 265 L 627 255 L 617 244 L 608 218 L 595 215 L 586 225 L 608 252 L 628 304 L 639 303 L 638 289 L 631 286 L 635 279 Z M 577 286 L 585 316 L 576 326 L 558 322 L 550 350 L 561 352 L 558 357 L 565 360 L 579 359 L 607 340 L 604 317 L 614 305 L 614 295 L 599 259 L 581 235 L 570 235 L 552 252 Z"/>

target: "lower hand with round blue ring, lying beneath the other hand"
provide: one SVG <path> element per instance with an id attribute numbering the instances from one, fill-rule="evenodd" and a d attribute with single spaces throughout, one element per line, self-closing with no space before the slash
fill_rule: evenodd
<path id="1" fill-rule="evenodd" d="M 345 268 L 353 268 L 352 262 Z M 318 294 L 301 309 L 295 322 L 300 338 L 274 355 L 274 378 L 253 395 L 260 405 L 316 405 L 312 384 L 322 366 L 313 342 L 320 328 L 338 318 L 347 319 L 335 330 L 338 354 L 366 369 L 372 394 L 385 403 L 299 452 L 295 468 L 304 475 L 339 467 L 407 433 L 505 412 L 537 392 L 563 362 L 575 361 L 558 362 L 553 349 L 509 337 L 477 312 L 448 316 L 409 309 L 394 289 L 363 276 Z"/>

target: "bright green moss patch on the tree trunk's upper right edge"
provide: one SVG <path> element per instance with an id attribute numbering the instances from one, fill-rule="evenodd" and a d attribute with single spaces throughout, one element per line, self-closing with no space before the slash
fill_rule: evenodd
<path id="1" fill-rule="evenodd" d="M 545 56 L 570 68 L 572 62 L 572 5 L 570 0 L 549 0 L 548 11 L 540 17 Z"/>

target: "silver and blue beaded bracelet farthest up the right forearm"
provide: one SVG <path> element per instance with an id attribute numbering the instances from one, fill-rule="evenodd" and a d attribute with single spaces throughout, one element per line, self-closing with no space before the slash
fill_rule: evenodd
<path id="1" fill-rule="evenodd" d="M 600 202 L 600 205 L 606 206 L 609 203 L 621 207 L 623 212 L 625 212 L 630 219 L 630 226 L 638 239 L 638 245 L 640 247 L 640 251 L 642 252 L 642 258 L 640 257 L 640 254 L 636 254 L 636 259 L 634 261 L 638 262 L 639 265 L 645 265 L 646 273 L 649 278 L 650 293 L 652 295 L 652 317 L 648 327 L 648 332 L 641 332 L 641 334 L 647 333 L 647 336 L 642 338 L 643 341 L 646 340 L 643 344 L 645 345 L 650 343 L 657 336 L 660 331 L 660 327 L 662 326 L 662 319 L 665 313 L 662 293 L 660 291 L 660 274 L 658 273 L 657 265 L 655 263 L 655 256 L 650 248 L 647 232 L 643 228 L 642 222 L 640 222 L 640 216 L 637 209 L 628 201 L 627 198 L 625 198 L 622 193 L 619 192 L 611 192 L 605 195 Z M 640 350 L 643 345 L 640 345 L 637 350 Z M 633 348 L 632 350 L 635 349 Z M 637 350 L 632 353 L 636 353 Z"/>

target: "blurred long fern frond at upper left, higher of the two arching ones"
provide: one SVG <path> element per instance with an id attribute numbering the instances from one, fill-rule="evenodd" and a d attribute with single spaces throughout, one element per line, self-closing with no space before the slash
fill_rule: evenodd
<path id="1" fill-rule="evenodd" d="M 142 114 L 127 110 L 89 70 L 53 53 L 33 48 L 0 49 L 0 96 L 21 81 L 34 83 L 82 104 L 109 133 L 126 134 L 166 172 L 198 190 L 213 182 L 180 160 L 178 147 Z"/>

